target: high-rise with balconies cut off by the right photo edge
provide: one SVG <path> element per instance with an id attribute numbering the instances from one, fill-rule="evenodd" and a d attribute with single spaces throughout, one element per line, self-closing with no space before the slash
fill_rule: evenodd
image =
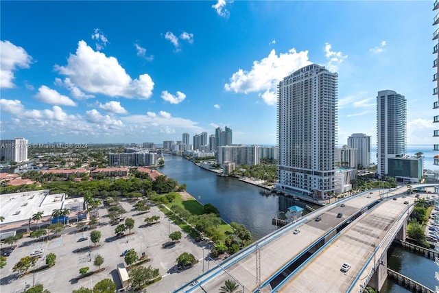
<path id="1" fill-rule="evenodd" d="M 433 10 L 438 10 L 439 9 L 439 1 L 434 1 L 434 5 L 433 5 Z M 439 13 L 436 13 L 436 16 L 434 16 L 433 19 L 433 25 L 438 25 L 439 24 Z M 433 47 L 433 54 L 434 54 L 434 60 L 433 60 L 433 69 L 434 69 L 434 73 L 433 73 L 433 82 L 434 82 L 434 89 L 433 89 L 433 96 L 434 96 L 434 103 L 433 103 L 433 108 L 434 109 L 439 109 L 439 93 L 438 93 L 438 89 L 439 89 L 439 80 L 438 80 L 438 73 L 439 73 L 439 66 L 438 66 L 438 60 L 439 60 L 439 28 L 436 28 L 436 30 L 433 33 L 433 40 L 434 40 L 434 47 Z M 436 115 L 435 117 L 433 117 L 433 122 L 434 123 L 438 123 L 439 122 L 439 115 Z M 437 124 L 436 124 L 437 125 Z M 439 137 L 439 129 L 438 130 L 434 130 L 433 132 L 433 136 L 434 137 Z M 436 143 L 435 145 L 433 145 L 433 149 L 436 151 L 439 151 L 439 143 Z M 439 154 L 436 154 L 436 156 L 434 156 L 434 165 L 439 165 Z M 436 180 L 439 180 L 439 171 L 436 170 L 436 172 L 434 172 L 434 178 Z"/>

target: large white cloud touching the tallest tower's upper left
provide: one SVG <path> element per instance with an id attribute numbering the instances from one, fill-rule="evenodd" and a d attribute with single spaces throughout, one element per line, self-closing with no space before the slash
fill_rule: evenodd
<path id="1" fill-rule="evenodd" d="M 258 92 L 265 103 L 274 105 L 278 82 L 292 71 L 309 64 L 308 51 L 297 53 L 296 49 L 290 49 L 287 53 L 276 55 L 272 49 L 267 57 L 254 61 L 250 71 L 239 69 L 233 73 L 230 83 L 224 84 L 224 89 L 235 93 Z"/>

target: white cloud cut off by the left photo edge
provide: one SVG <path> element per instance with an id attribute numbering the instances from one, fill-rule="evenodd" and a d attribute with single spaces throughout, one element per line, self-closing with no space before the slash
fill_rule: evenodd
<path id="1" fill-rule="evenodd" d="M 13 88 L 14 70 L 29 68 L 32 56 L 25 49 L 12 44 L 9 40 L 0 41 L 0 89 Z"/>

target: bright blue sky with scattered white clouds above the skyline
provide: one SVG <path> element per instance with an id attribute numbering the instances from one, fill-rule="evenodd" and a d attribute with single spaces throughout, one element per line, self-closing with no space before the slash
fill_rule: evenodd
<path id="1" fill-rule="evenodd" d="M 276 84 L 339 75 L 338 143 L 376 144 L 376 95 L 433 144 L 433 1 L 1 1 L 2 139 L 180 141 L 228 126 L 276 144 Z"/>

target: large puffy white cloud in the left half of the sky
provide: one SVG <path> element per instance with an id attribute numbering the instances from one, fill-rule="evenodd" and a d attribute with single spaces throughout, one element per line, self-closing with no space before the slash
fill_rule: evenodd
<path id="1" fill-rule="evenodd" d="M 115 57 L 93 51 L 84 40 L 80 40 L 76 53 L 70 54 L 67 62 L 67 66 L 56 65 L 55 69 L 88 93 L 139 99 L 152 95 L 154 82 L 150 75 L 145 73 L 132 80 Z"/>

